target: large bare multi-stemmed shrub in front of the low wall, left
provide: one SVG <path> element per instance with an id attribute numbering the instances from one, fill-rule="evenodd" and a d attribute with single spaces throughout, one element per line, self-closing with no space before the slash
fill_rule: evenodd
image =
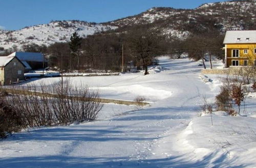
<path id="1" fill-rule="evenodd" d="M 15 87 L 12 92 L 13 96 L 6 97 L 6 102 L 30 127 L 95 120 L 102 108 L 97 92 L 73 86 L 68 80 L 49 87 Z"/>

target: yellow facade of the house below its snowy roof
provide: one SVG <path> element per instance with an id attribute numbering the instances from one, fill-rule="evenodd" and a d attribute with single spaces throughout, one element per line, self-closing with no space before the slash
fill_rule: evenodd
<path id="1" fill-rule="evenodd" d="M 239 65 L 244 65 L 244 60 L 248 60 L 248 65 L 254 65 L 254 60 L 256 59 L 256 54 L 254 53 L 254 48 L 256 48 L 256 43 L 253 44 L 226 44 L 227 47 L 227 67 L 232 65 L 232 60 L 239 60 Z M 232 57 L 232 49 L 239 49 L 239 57 Z M 244 53 L 244 49 L 248 50 L 248 53 Z"/>

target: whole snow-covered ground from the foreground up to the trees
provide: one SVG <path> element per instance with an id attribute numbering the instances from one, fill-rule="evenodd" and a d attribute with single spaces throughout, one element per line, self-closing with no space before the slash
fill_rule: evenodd
<path id="1" fill-rule="evenodd" d="M 202 96 L 214 101 L 219 76 L 203 81 L 202 66 L 186 58 L 161 57 L 159 64 L 145 76 L 72 77 L 103 98 L 143 96 L 152 103 L 105 104 L 95 122 L 16 133 L 0 142 L 0 167 L 255 167 L 256 99 L 246 98 L 248 117 L 218 112 L 211 126 L 209 115 L 199 117 L 199 106 Z"/>

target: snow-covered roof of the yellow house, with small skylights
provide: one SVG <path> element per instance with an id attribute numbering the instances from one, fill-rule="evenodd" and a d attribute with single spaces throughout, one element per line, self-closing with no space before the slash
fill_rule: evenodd
<path id="1" fill-rule="evenodd" d="M 256 43 L 256 31 L 227 31 L 223 43 Z"/>

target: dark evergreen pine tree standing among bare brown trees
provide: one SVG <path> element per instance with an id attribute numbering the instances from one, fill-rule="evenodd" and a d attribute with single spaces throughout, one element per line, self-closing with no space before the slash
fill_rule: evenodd
<path id="1" fill-rule="evenodd" d="M 69 43 L 71 55 L 73 55 L 74 58 L 77 58 L 78 69 L 80 68 L 79 58 L 80 58 L 81 41 L 82 41 L 82 38 L 78 36 L 77 32 L 74 32 L 70 38 L 70 43 Z M 70 58 L 70 66 L 71 66 L 71 58 Z"/>

